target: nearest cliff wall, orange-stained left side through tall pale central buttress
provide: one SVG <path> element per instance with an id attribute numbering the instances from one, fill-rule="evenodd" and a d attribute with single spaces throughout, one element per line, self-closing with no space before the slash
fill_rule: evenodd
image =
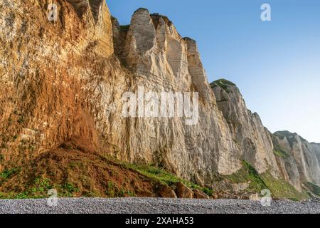
<path id="1" fill-rule="evenodd" d="M 1 170 L 74 135 L 100 151 L 111 143 L 122 160 L 154 162 L 188 180 L 197 173 L 210 182 L 216 172 L 228 175 L 240 168 L 238 149 L 206 88 L 203 68 L 193 84 L 197 76 L 189 72 L 188 56 L 191 68 L 201 66 L 195 43 L 188 46 L 168 19 L 144 9 L 134 14 L 122 48 L 131 73 L 113 56 L 114 28 L 105 3 L 92 14 L 84 1 L 59 1 L 54 22 L 47 19 L 47 6 L 1 2 Z M 31 12 L 32 20 L 23 16 Z M 122 94 L 138 86 L 154 92 L 206 88 L 199 122 L 123 118 Z"/>

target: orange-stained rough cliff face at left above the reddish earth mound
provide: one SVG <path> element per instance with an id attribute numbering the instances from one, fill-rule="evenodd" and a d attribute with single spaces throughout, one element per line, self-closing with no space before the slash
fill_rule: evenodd
<path id="1" fill-rule="evenodd" d="M 58 21 L 49 21 L 48 4 L 0 3 L 1 170 L 18 166 L 73 135 L 99 147 L 95 126 L 111 97 L 117 96 L 102 93 L 114 91 L 112 81 L 121 74 L 120 68 L 112 67 L 119 63 L 112 57 L 107 6 L 102 5 L 96 22 L 89 8 L 79 17 L 68 1 L 59 1 Z M 117 81 L 124 78 L 117 76 Z"/>

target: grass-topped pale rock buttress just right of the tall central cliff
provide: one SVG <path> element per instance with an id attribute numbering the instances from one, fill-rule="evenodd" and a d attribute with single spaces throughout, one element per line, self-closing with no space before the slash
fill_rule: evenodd
<path id="1" fill-rule="evenodd" d="M 279 176 L 270 132 L 262 125 L 259 115 L 247 109 L 238 87 L 225 80 L 211 83 L 211 86 L 242 159 L 260 173 L 270 170 L 274 176 Z"/>

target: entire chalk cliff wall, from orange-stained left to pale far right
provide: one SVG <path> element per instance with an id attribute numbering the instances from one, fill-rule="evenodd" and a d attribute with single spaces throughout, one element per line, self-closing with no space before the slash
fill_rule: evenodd
<path id="1" fill-rule="evenodd" d="M 61 0 L 50 21 L 50 3 L 0 2 L 0 171 L 81 136 L 102 154 L 201 185 L 237 172 L 241 160 L 299 190 L 302 182 L 320 184 L 320 146 L 271 135 L 235 85 L 210 86 L 196 41 L 166 16 L 139 9 L 119 26 L 103 0 Z M 150 99 L 198 92 L 198 115 L 146 116 L 149 99 L 125 117 L 127 92 L 137 99 L 138 92 L 154 92 Z M 290 153 L 286 160 L 274 155 L 274 142 Z"/>

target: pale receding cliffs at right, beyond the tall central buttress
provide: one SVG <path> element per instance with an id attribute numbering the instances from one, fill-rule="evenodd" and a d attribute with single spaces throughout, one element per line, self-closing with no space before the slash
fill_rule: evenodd
<path id="1" fill-rule="evenodd" d="M 233 138 L 242 150 L 242 158 L 260 172 L 272 172 L 302 192 L 305 182 L 319 185 L 319 146 L 297 134 L 272 135 L 257 113 L 247 110 L 235 84 L 224 79 L 211 83 L 217 104 L 228 122 Z M 235 187 L 232 187 L 235 190 Z"/>

